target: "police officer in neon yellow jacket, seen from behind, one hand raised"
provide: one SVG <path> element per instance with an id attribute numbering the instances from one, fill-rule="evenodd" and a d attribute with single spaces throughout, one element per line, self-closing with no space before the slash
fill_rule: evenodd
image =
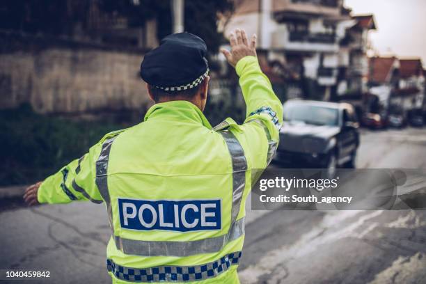
<path id="1" fill-rule="evenodd" d="M 212 127 L 203 115 L 205 42 L 166 36 L 145 55 L 141 77 L 155 105 L 142 123 L 111 132 L 86 155 L 26 190 L 27 203 L 104 203 L 113 283 L 239 283 L 251 171 L 278 144 L 282 104 L 260 70 L 256 38 L 235 30 L 222 50 L 239 76 L 246 120 Z"/>

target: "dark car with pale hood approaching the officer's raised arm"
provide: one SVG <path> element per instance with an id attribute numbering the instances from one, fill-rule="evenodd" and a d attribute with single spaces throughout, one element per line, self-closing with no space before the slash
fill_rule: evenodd
<path id="1" fill-rule="evenodd" d="M 354 168 L 358 120 L 347 103 L 289 100 L 274 161 L 290 168 Z"/>

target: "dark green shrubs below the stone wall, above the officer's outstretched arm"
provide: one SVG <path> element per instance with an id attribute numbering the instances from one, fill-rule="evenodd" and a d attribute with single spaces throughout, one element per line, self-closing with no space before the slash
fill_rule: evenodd
<path id="1" fill-rule="evenodd" d="M 84 155 L 104 134 L 124 127 L 42 116 L 29 105 L 0 111 L 0 186 L 42 180 Z"/>

